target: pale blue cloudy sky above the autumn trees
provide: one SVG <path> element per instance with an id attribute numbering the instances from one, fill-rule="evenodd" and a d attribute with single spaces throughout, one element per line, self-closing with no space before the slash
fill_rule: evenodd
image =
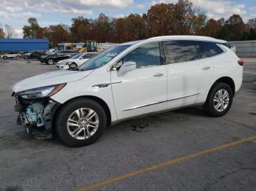
<path id="1" fill-rule="evenodd" d="M 29 17 L 36 17 L 40 26 L 59 23 L 71 25 L 72 17 L 96 18 L 99 13 L 108 17 L 125 17 L 130 13 L 143 14 L 154 4 L 176 3 L 178 0 L 1 0 L 0 25 L 14 28 L 21 38 L 22 28 Z M 227 19 L 238 14 L 244 22 L 256 17 L 256 0 L 192 0 L 208 18 Z"/>

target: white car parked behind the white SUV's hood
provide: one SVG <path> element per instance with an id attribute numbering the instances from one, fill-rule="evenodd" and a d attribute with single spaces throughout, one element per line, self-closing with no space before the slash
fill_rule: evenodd
<path id="1" fill-rule="evenodd" d="M 75 69 L 96 55 L 98 55 L 98 52 L 79 53 L 77 55 L 74 55 L 72 58 L 59 61 L 56 64 L 56 67 L 58 69 Z"/>

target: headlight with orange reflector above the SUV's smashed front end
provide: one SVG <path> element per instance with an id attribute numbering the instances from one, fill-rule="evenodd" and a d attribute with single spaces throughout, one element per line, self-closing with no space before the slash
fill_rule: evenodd
<path id="1" fill-rule="evenodd" d="M 66 84 L 59 84 L 59 85 L 50 85 L 45 87 L 37 87 L 31 90 L 24 90 L 18 92 L 17 95 L 21 96 L 24 99 L 35 99 L 35 98 L 45 98 L 50 97 L 59 90 L 61 90 Z"/>

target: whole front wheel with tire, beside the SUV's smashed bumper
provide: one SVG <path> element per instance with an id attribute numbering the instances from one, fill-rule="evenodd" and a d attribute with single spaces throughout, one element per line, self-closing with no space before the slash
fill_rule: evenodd
<path id="1" fill-rule="evenodd" d="M 106 125 L 105 110 L 88 98 L 79 98 L 64 105 L 56 117 L 56 132 L 71 147 L 93 144 Z"/>

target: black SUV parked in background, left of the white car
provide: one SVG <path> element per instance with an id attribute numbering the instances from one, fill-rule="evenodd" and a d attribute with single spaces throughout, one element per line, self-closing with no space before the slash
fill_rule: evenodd
<path id="1" fill-rule="evenodd" d="M 62 50 L 62 51 L 56 51 L 51 55 L 42 56 L 40 61 L 41 63 L 47 63 L 47 64 L 53 64 L 57 61 L 61 61 L 67 58 L 72 58 L 74 55 L 77 55 L 78 52 L 75 50 Z"/>

